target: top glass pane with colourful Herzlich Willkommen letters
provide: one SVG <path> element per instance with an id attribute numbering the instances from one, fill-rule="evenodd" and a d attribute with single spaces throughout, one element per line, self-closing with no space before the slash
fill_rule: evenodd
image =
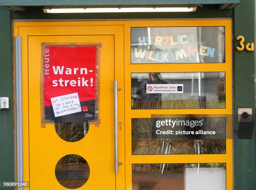
<path id="1" fill-rule="evenodd" d="M 131 63 L 225 62 L 225 27 L 131 28 Z"/>

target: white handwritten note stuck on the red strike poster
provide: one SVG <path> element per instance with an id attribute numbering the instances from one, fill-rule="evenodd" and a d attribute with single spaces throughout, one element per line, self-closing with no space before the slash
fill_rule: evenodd
<path id="1" fill-rule="evenodd" d="M 73 94 L 52 97 L 51 104 L 55 117 L 82 111 L 77 92 Z"/>

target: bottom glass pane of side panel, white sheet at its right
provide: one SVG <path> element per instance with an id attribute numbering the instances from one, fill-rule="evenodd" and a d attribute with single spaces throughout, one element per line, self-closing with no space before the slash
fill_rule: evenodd
<path id="1" fill-rule="evenodd" d="M 225 190 L 225 163 L 133 164 L 133 190 Z"/>

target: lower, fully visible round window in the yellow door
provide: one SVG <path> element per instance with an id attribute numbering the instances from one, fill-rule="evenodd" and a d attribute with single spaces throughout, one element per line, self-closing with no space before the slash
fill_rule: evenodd
<path id="1" fill-rule="evenodd" d="M 62 157 L 55 167 L 56 179 L 62 186 L 69 189 L 82 187 L 89 175 L 90 168 L 87 161 L 75 154 Z"/>

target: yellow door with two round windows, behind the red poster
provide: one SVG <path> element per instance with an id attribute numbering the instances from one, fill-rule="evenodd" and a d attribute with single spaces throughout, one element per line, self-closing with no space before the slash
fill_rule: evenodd
<path id="1" fill-rule="evenodd" d="M 120 180 L 124 179 L 124 164 L 115 173 L 114 145 L 114 80 L 123 88 L 122 31 L 120 26 L 21 27 L 16 31 L 23 41 L 24 181 L 30 182 L 31 190 L 113 190 L 124 186 Z M 101 45 L 99 123 L 42 122 L 44 43 Z M 123 110 L 123 91 L 118 90 L 120 125 Z M 124 130 L 119 128 L 118 133 L 119 162 L 124 163 Z"/>

